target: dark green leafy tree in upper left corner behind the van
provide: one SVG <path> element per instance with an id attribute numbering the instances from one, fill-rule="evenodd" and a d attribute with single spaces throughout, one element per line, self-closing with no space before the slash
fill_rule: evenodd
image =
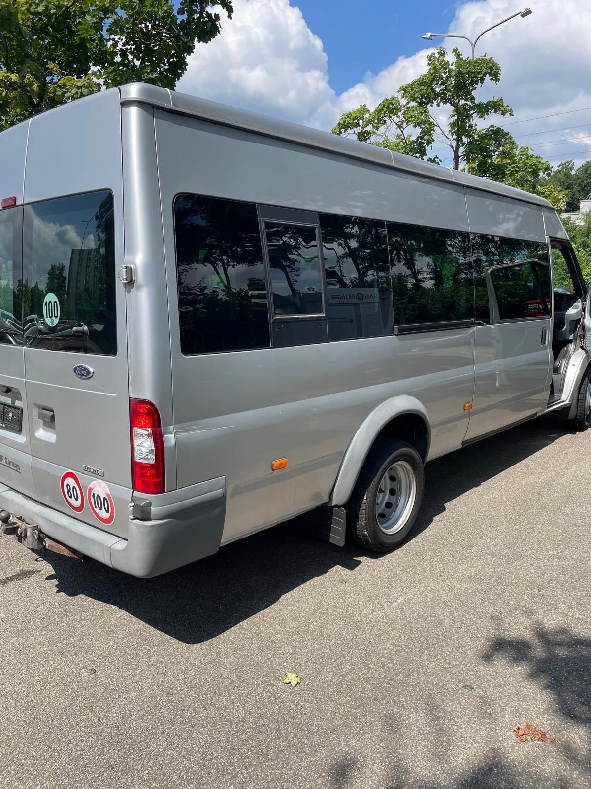
<path id="1" fill-rule="evenodd" d="M 143 81 L 174 88 L 232 0 L 0 0 L 0 130 L 70 99 Z"/>

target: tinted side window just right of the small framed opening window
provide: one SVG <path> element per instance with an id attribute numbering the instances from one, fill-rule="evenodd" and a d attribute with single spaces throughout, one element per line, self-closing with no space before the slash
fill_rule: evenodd
<path id="1" fill-rule="evenodd" d="M 384 222 L 320 215 L 329 340 L 392 334 Z"/>

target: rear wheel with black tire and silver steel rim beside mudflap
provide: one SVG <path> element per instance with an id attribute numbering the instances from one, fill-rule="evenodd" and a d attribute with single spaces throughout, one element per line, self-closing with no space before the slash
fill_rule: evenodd
<path id="1" fill-rule="evenodd" d="M 392 488 L 381 487 L 392 466 L 387 480 Z M 414 447 L 406 441 L 379 439 L 349 499 L 348 537 L 369 551 L 392 551 L 411 532 L 424 489 L 422 458 Z"/>

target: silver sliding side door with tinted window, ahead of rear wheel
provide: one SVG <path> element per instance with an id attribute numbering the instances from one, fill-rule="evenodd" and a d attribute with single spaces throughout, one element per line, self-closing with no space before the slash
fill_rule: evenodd
<path id="1" fill-rule="evenodd" d="M 548 246 L 473 234 L 476 384 L 466 441 L 535 416 L 552 381 Z"/>

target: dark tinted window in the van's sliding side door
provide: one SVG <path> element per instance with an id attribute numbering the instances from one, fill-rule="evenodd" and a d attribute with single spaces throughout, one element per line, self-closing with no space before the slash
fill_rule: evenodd
<path id="1" fill-rule="evenodd" d="M 484 234 L 472 235 L 476 320 L 522 320 L 550 314 L 548 247 Z M 498 316 L 489 301 L 496 300 Z"/>

